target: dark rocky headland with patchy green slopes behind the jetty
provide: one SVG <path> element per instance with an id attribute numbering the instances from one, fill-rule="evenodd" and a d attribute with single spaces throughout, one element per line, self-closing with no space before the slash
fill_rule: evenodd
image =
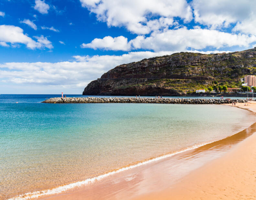
<path id="1" fill-rule="evenodd" d="M 239 86 L 243 75 L 255 73 L 255 49 L 214 55 L 181 52 L 119 65 L 89 83 L 83 95 L 184 95 L 214 80 Z"/>

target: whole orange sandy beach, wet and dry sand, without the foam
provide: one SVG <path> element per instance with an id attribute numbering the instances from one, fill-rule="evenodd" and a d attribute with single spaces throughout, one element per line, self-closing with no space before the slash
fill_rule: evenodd
<path id="1" fill-rule="evenodd" d="M 256 112 L 256 102 L 237 106 Z M 223 140 L 40 199 L 256 199 L 254 132 L 256 123 Z"/>

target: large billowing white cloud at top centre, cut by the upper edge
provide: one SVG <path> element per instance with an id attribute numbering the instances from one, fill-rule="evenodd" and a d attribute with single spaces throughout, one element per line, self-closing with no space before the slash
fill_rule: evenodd
<path id="1" fill-rule="evenodd" d="M 148 34 L 173 25 L 173 17 L 185 23 L 192 20 L 186 0 L 80 0 L 83 7 L 96 14 L 108 26 L 125 26 L 137 34 Z M 150 20 L 152 16 L 157 19 Z"/>

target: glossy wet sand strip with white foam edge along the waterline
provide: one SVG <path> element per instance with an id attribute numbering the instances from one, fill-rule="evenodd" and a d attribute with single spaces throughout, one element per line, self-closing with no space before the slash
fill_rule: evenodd
<path id="1" fill-rule="evenodd" d="M 249 103 L 249 105 L 252 104 Z M 252 106 L 237 105 L 251 111 L 251 116 L 254 115 L 255 111 L 250 109 Z M 252 129 L 255 130 L 252 131 Z M 240 127 L 240 130 L 243 129 Z M 151 194 L 161 196 L 162 193 L 168 193 L 170 188 L 175 188 L 180 180 L 198 168 L 204 167 L 215 158 L 222 157 L 255 131 L 256 123 L 239 133 L 236 132 L 234 135 L 215 142 L 191 146 L 171 154 L 145 160 L 145 163 L 141 161 L 137 163 L 138 165 L 131 164 L 127 169 L 125 166 L 119 171 L 113 170 L 110 174 L 93 177 L 92 180 L 89 178 L 51 190 L 38 191 L 34 195 L 33 193 L 20 195 L 14 199 L 30 199 L 31 197 L 32 199 L 150 199 Z M 168 183 L 169 180 L 172 180 L 171 183 Z"/>

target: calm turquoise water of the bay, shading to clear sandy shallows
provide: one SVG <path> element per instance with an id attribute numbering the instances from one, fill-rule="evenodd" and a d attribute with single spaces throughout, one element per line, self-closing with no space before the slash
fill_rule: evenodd
<path id="1" fill-rule="evenodd" d="M 39 103 L 45 96 L 54 95 L 0 95 L 2 199 L 219 140 L 255 121 L 223 105 Z"/>

